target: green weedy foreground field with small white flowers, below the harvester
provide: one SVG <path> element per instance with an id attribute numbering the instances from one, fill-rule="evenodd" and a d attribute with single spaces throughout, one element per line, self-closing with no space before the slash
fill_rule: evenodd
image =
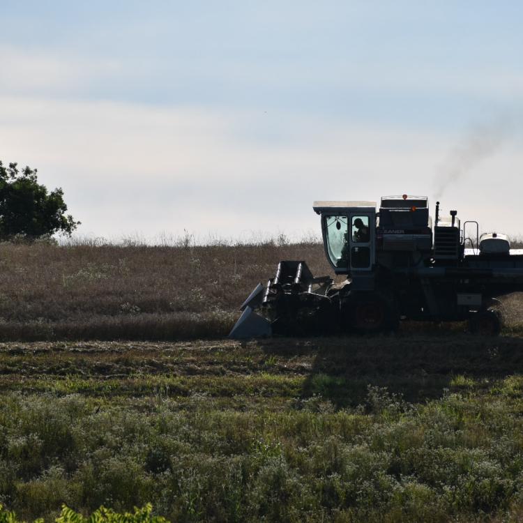
<path id="1" fill-rule="evenodd" d="M 50 520 L 519 521 L 523 344 L 0 345 L 0 503 Z"/>

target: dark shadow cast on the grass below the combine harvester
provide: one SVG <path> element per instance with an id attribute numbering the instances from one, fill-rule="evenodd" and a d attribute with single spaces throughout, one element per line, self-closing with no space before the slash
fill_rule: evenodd
<path id="1" fill-rule="evenodd" d="M 312 356 L 303 398 L 314 395 L 336 408 L 365 404 L 369 387 L 385 387 L 411 403 L 441 397 L 446 389 L 523 372 L 523 340 L 500 336 L 402 335 L 280 339 L 260 342 L 267 354 Z"/>

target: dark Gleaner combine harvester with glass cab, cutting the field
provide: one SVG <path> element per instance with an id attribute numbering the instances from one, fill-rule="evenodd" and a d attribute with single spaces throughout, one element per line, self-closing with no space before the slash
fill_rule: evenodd
<path id="1" fill-rule="evenodd" d="M 456 211 L 434 227 L 426 197 L 314 202 L 326 257 L 342 283 L 315 278 L 305 261 L 280 261 L 243 303 L 229 338 L 394 331 L 400 320 L 469 321 L 497 334 L 499 296 L 523 290 L 523 250 L 503 234 L 479 236 Z M 467 236 L 472 231 L 474 236 Z M 469 247 L 469 248 L 466 248 Z"/>

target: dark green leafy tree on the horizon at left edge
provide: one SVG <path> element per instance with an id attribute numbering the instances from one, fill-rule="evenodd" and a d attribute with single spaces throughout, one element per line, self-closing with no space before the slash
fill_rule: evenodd
<path id="1" fill-rule="evenodd" d="M 25 167 L 20 172 L 16 163 L 5 167 L 0 161 L 0 238 L 16 234 L 39 238 L 55 232 L 70 235 L 80 222 L 66 211 L 63 190 L 49 192 L 38 183 L 36 169 Z"/>

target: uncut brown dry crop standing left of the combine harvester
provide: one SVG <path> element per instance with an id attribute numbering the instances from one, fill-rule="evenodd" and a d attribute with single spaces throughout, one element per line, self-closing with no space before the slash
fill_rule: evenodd
<path id="1" fill-rule="evenodd" d="M 328 273 L 321 245 L 0 244 L 0 340 L 225 335 L 280 259 Z"/>

